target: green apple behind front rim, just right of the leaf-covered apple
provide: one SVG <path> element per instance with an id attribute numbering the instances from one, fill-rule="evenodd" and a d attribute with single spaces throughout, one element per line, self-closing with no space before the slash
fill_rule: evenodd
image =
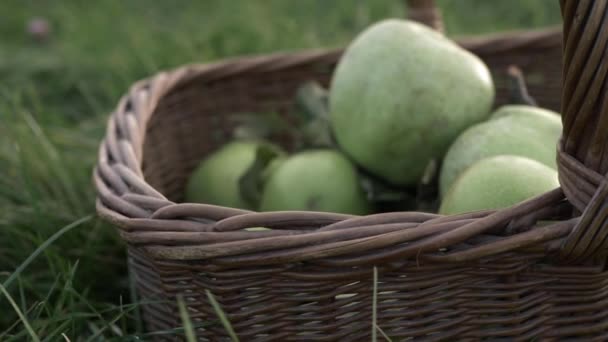
<path id="1" fill-rule="evenodd" d="M 262 192 L 261 211 L 367 214 L 370 204 L 355 166 L 340 152 L 302 151 L 281 162 Z"/>

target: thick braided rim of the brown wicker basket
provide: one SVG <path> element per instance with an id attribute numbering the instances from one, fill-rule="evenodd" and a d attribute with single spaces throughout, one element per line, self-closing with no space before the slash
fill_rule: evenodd
<path id="1" fill-rule="evenodd" d="M 500 53 L 501 48 L 543 49 L 561 44 L 561 30 L 513 31 L 474 39 L 463 37 L 456 41 L 465 48 L 495 53 Z M 238 56 L 205 64 L 186 64 L 135 82 L 110 116 L 106 136 L 99 147 L 93 175 L 99 216 L 120 228 L 127 242 L 139 245 L 151 256 L 165 260 L 224 258 L 227 264 L 277 264 L 307 258 L 339 257 L 349 255 L 357 248 L 378 250 L 393 246 L 395 241 L 421 239 L 405 250 L 389 251 L 384 253 L 386 255 L 378 252 L 362 258 L 347 257 L 335 261 L 337 265 L 350 265 L 437 251 L 466 241 L 515 217 L 522 216 L 520 225 L 523 225 L 534 220 L 535 211 L 548 210 L 564 201 L 562 190 L 556 189 L 506 210 L 451 217 L 417 212 L 364 217 L 325 212 L 257 213 L 207 204 L 173 203 L 144 180 L 141 161 L 146 125 L 154 108 L 166 94 L 201 77 L 217 80 L 252 70 L 276 71 L 302 64 L 327 63 L 336 61 L 341 52 L 342 48 L 336 48 Z M 242 231 L 242 228 L 255 225 L 274 229 Z M 526 253 L 555 251 L 559 247 L 555 244 L 556 239 L 566 236 L 574 225 L 573 220 L 559 222 L 551 229 L 515 233 L 509 238 L 496 238 L 462 251 L 430 254 L 425 258 L 434 262 L 467 262 L 526 247 L 531 248 Z M 515 226 L 517 224 L 511 227 L 513 231 L 521 228 Z M 294 227 L 317 229 L 312 232 L 290 229 Z M 436 235 L 431 236 L 431 233 Z M 204 244 L 214 239 L 218 243 Z M 300 248 L 283 254 L 272 252 L 278 243 Z M 538 246 L 541 246 L 540 249 Z M 238 256 L 236 249 L 249 251 L 256 257 Z M 260 258 L 262 254 L 263 258 Z"/>

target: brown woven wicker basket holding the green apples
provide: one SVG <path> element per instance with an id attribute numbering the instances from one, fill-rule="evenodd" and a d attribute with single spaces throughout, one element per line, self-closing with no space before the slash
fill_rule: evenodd
<path id="1" fill-rule="evenodd" d="M 179 203 L 198 161 L 230 137 L 226 114 L 287 114 L 303 81 L 327 84 L 340 51 L 189 65 L 133 85 L 94 179 L 98 213 L 128 243 L 149 302 L 147 329 L 181 326 L 181 296 L 201 340 L 227 339 L 209 290 L 243 341 L 369 340 L 374 319 L 394 340 L 608 340 L 607 2 L 560 4 L 563 82 L 561 30 L 461 41 L 497 74 L 518 64 L 542 75 L 530 86 L 540 105 L 563 101 L 561 188 L 505 210 L 354 217 Z M 243 230 L 255 226 L 274 229 Z"/>

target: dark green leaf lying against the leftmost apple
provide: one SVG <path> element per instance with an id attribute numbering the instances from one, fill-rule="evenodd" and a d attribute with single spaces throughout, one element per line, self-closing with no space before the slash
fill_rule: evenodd
<path id="1" fill-rule="evenodd" d="M 241 196 L 252 208 L 257 208 L 264 186 L 265 170 L 282 152 L 271 144 L 260 144 L 251 166 L 239 179 Z"/>

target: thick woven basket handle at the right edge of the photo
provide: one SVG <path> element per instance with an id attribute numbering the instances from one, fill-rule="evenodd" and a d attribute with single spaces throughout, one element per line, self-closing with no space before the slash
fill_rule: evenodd
<path id="1" fill-rule="evenodd" d="M 560 256 L 608 255 L 608 1 L 560 0 L 563 17 L 562 137 L 558 173 L 582 213 Z"/>

